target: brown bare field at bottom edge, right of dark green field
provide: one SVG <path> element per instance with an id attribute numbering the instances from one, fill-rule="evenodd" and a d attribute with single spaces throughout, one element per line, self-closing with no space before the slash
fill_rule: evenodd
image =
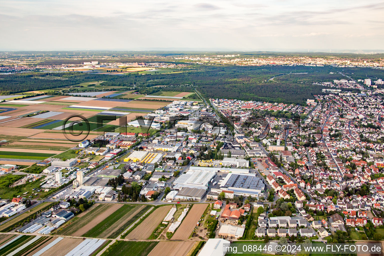
<path id="1" fill-rule="evenodd" d="M 195 241 L 161 241 L 148 256 L 186 256 L 196 243 Z"/>

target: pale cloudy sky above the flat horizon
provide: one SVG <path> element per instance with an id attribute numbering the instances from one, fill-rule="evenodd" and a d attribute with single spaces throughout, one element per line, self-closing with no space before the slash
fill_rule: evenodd
<path id="1" fill-rule="evenodd" d="M 0 50 L 383 50 L 382 0 L 0 0 Z"/>

